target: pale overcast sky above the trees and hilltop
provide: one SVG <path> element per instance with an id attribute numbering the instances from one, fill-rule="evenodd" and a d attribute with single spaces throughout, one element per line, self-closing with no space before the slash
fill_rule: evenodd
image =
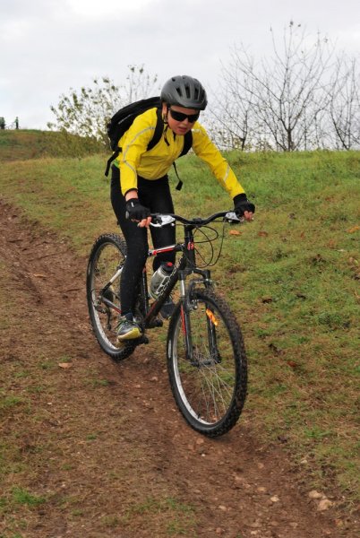
<path id="1" fill-rule="evenodd" d="M 62 94 L 128 65 L 215 88 L 234 46 L 269 56 L 290 20 L 360 52 L 359 0 L 0 0 L 0 117 L 46 128 Z"/>

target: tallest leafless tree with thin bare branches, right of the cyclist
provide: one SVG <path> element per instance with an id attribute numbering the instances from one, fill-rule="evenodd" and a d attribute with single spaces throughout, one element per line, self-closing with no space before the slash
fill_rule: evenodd
<path id="1" fill-rule="evenodd" d="M 284 30 L 280 45 L 270 31 L 270 59 L 255 63 L 241 46 L 233 49 L 231 65 L 223 67 L 224 116 L 229 102 L 236 100 L 241 126 L 252 134 L 255 148 L 291 152 L 316 147 L 333 54 L 329 40 L 318 34 L 311 41 L 294 22 Z"/>

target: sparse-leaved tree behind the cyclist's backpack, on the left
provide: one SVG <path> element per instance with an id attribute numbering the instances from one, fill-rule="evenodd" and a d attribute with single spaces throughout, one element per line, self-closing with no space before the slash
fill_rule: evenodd
<path id="1" fill-rule="evenodd" d="M 57 106 L 51 107 L 56 121 L 49 122 L 47 127 L 90 136 L 107 145 L 107 122 L 116 110 L 159 91 L 155 89 L 157 76 L 146 74 L 143 65 L 129 65 L 129 70 L 122 85 L 102 77 L 94 79 L 93 86 L 83 86 L 79 91 L 71 89 L 69 95 L 62 95 Z"/>

